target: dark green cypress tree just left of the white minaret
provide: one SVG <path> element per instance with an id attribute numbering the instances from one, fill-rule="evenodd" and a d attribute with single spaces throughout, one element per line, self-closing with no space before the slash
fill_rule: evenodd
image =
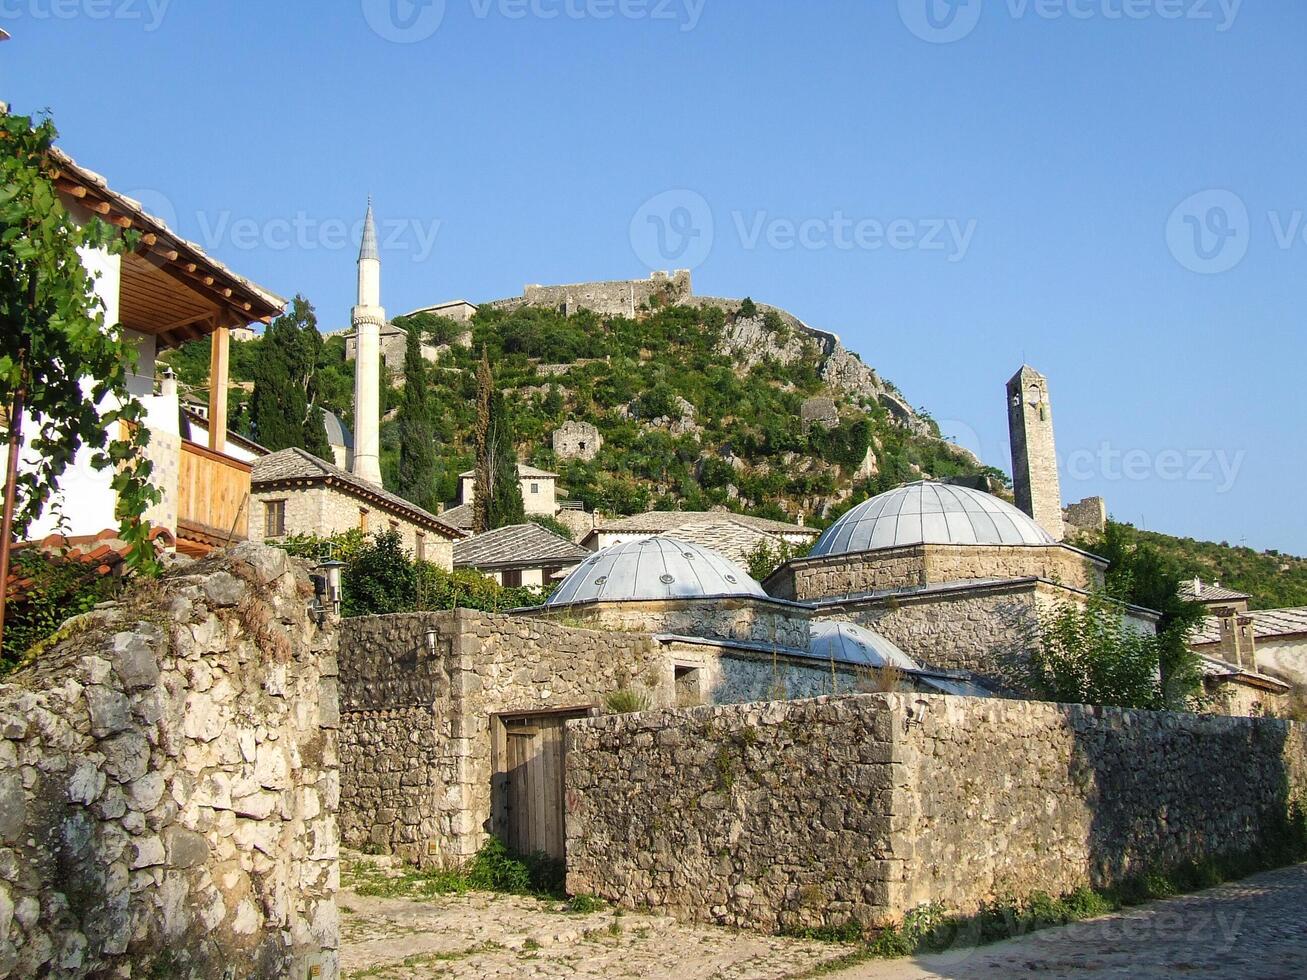
<path id="1" fill-rule="evenodd" d="M 298 447 L 329 457 L 331 444 L 318 404 L 316 371 L 323 338 L 312 303 L 297 295 L 290 310 L 264 333 L 254 366 L 250 416 L 255 438 L 273 452 Z"/>

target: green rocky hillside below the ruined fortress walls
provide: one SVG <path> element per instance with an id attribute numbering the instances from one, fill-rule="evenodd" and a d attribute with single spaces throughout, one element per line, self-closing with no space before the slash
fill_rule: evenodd
<path id="1" fill-rule="evenodd" d="M 481 307 L 472 346 L 429 314 L 396 321 L 440 346 L 443 486 L 472 465 L 473 368 L 482 345 L 514 409 L 521 459 L 562 474 L 587 508 L 736 511 L 812 523 L 921 476 L 1004 477 L 938 438 L 838 337 L 749 299 L 654 297 L 634 316 L 515 304 Z M 552 434 L 595 425 L 593 460 L 559 459 Z M 397 453 L 383 427 L 383 464 Z"/>

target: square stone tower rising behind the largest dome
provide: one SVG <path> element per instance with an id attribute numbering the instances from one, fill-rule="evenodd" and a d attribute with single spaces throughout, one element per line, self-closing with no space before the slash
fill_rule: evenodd
<path id="1" fill-rule="evenodd" d="M 1023 366 L 1008 382 L 1008 430 L 1017 506 L 1061 541 L 1067 531 L 1053 446 L 1053 410 L 1048 402 L 1048 380 L 1033 367 Z"/>

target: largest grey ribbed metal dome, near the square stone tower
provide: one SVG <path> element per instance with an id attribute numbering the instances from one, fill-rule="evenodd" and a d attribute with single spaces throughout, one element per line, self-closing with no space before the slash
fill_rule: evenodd
<path id="1" fill-rule="evenodd" d="M 857 504 L 830 525 L 812 557 L 902 545 L 1056 545 L 1052 534 L 993 494 L 910 483 Z"/>

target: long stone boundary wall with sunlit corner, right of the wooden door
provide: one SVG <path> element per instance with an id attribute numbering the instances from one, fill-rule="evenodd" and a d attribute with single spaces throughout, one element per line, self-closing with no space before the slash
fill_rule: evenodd
<path id="1" fill-rule="evenodd" d="M 587 719 L 567 887 L 775 930 L 1064 894 L 1255 852 L 1300 727 L 921 694 Z"/>

